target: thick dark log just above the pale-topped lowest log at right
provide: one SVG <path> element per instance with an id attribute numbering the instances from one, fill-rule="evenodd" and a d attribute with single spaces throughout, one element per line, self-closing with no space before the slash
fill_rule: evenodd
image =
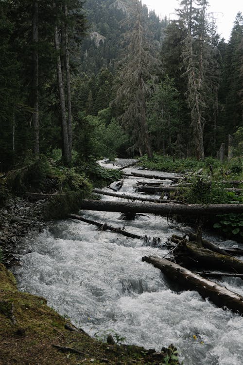
<path id="1" fill-rule="evenodd" d="M 213 268 L 243 274 L 243 261 L 229 255 L 198 247 L 198 245 L 186 239 L 180 242 L 174 250 L 174 254 L 178 255 L 180 262 L 185 263 L 185 265 L 192 259 L 193 265 L 196 263 L 197 266 L 208 269 Z"/>

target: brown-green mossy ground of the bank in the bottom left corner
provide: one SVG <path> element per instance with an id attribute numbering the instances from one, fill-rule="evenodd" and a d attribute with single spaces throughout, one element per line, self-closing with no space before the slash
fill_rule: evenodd
<path id="1" fill-rule="evenodd" d="M 17 290 L 14 276 L 0 264 L 0 364 L 164 364 L 161 353 L 138 346 L 108 345 L 86 333 L 65 328 L 67 320 L 46 305 L 46 300 Z M 58 350 L 53 345 L 79 351 Z M 169 362 L 166 364 L 179 364 Z"/>

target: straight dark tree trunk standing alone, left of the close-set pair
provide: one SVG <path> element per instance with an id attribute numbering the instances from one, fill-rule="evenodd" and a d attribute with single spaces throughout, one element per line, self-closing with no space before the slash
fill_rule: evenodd
<path id="1" fill-rule="evenodd" d="M 39 56 L 36 49 L 38 43 L 38 0 L 33 1 L 33 25 L 32 25 L 32 41 L 33 41 L 33 95 L 34 95 L 34 115 L 33 115 L 33 126 L 34 126 L 34 154 L 36 157 L 40 154 L 39 149 Z"/>

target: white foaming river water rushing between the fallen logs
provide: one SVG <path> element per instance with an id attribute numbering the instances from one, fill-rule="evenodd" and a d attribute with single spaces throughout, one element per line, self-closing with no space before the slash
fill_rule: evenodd
<path id="1" fill-rule="evenodd" d="M 125 170 L 130 171 L 138 170 Z M 133 186 L 142 180 L 124 179 L 121 192 L 134 194 Z M 124 224 L 127 231 L 139 235 L 160 237 L 161 244 L 189 229 L 175 223 L 170 228 L 166 217 L 152 214 L 134 221 L 121 220 L 121 214 L 114 212 L 82 211 L 82 215 L 113 227 Z M 222 247 L 233 245 L 236 242 L 220 242 Z M 127 344 L 156 350 L 172 343 L 184 365 L 243 364 L 243 317 L 203 300 L 196 291 L 173 291 L 159 269 L 141 260 L 145 255 L 162 257 L 168 249 L 70 219 L 27 237 L 23 250 L 31 253 L 21 255 L 19 289 L 45 297 L 49 306 L 91 336 L 117 333 Z M 224 278 L 219 283 L 243 295 L 241 279 Z"/>

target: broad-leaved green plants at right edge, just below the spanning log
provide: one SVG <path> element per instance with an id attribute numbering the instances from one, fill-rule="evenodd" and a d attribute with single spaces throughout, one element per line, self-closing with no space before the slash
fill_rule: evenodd
<path id="1" fill-rule="evenodd" d="M 237 239 L 243 237 L 243 215 L 242 214 L 220 214 L 216 216 L 217 222 L 213 227 L 220 229 L 229 236 Z"/>

